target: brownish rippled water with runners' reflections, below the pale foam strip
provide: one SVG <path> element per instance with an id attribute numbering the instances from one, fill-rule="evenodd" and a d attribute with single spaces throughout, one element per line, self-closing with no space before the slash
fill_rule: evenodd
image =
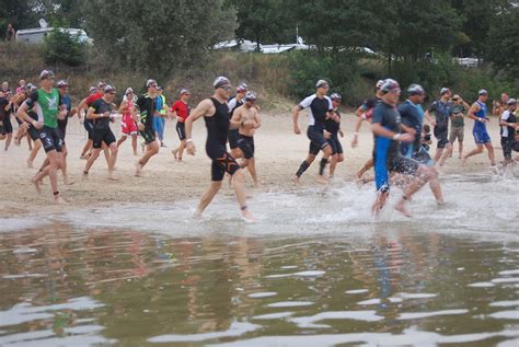
<path id="1" fill-rule="evenodd" d="M 0 345 L 497 343 L 518 335 L 518 248 L 406 224 L 172 238 L 55 222 L 0 234 Z"/>

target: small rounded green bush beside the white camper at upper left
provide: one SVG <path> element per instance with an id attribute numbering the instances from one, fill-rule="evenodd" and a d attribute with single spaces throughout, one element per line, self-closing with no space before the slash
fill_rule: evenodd
<path id="1" fill-rule="evenodd" d="M 64 63 L 71 67 L 84 65 L 88 60 L 88 44 L 79 36 L 54 28 L 45 37 L 44 59 L 46 63 Z"/>

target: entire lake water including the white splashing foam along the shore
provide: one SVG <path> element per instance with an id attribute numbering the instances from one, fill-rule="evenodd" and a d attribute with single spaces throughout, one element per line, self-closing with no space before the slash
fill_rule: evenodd
<path id="1" fill-rule="evenodd" d="M 518 187 L 449 176 L 415 217 L 371 186 L 0 220 L 0 346 L 517 346 Z M 393 199 L 400 193 L 395 190 Z"/>

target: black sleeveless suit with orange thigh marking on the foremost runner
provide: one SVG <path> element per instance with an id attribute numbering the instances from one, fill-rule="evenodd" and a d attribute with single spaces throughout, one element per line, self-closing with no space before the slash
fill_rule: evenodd
<path id="1" fill-rule="evenodd" d="M 226 148 L 230 124 L 229 106 L 215 97 L 210 100 L 216 111 L 211 117 L 204 117 L 207 127 L 206 153 L 212 160 L 211 181 L 219 182 L 223 180 L 226 172 L 233 175 L 240 165 Z"/>

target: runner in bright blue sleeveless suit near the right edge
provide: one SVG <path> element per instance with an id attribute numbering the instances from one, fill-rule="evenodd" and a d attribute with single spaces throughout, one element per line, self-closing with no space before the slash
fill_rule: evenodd
<path id="1" fill-rule="evenodd" d="M 472 104 L 469 109 L 468 117 L 474 119 L 474 128 L 472 129 L 472 135 L 474 136 L 474 141 L 476 143 L 476 149 L 472 150 L 463 157 L 463 163 L 472 157 L 483 152 L 483 147 L 486 147 L 488 150 L 488 159 L 491 160 L 491 170 L 496 170 L 496 160 L 494 157 L 494 147 L 492 147 L 491 136 L 486 130 L 486 123 L 488 123 L 488 117 L 486 114 L 486 101 L 488 100 L 488 92 L 482 89 L 478 92 L 478 97 L 475 103 Z"/>

